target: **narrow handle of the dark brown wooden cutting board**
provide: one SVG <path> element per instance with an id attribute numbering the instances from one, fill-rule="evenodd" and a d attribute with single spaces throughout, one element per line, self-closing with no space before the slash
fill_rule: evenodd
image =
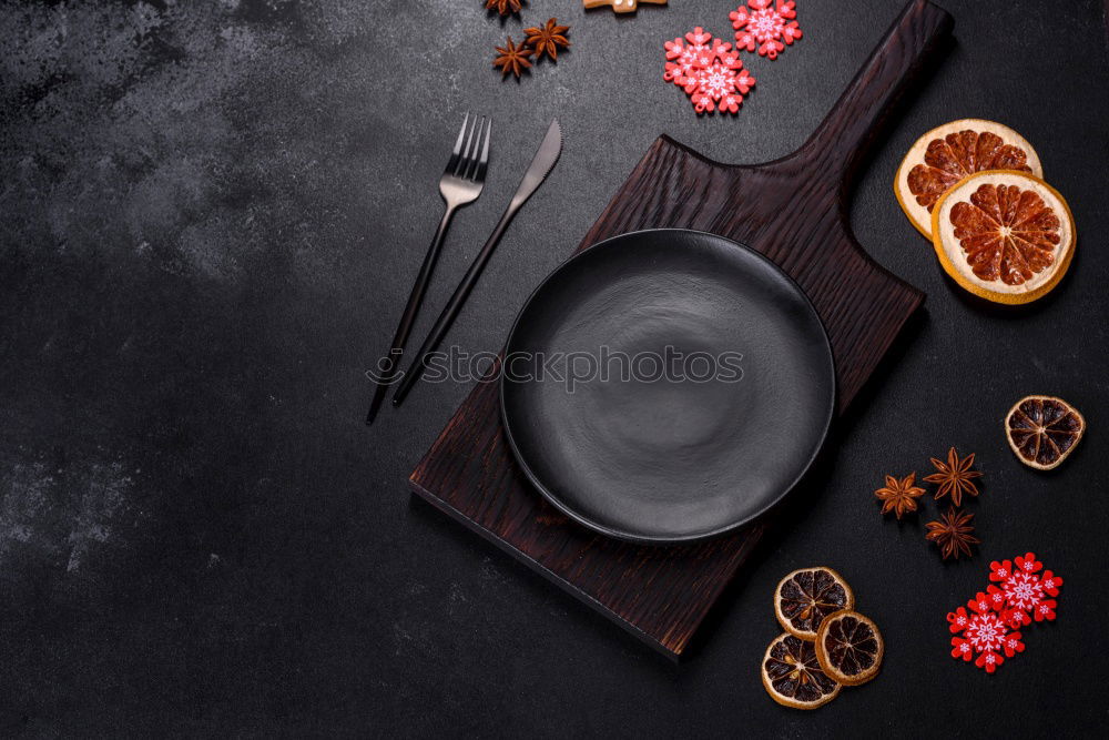
<path id="1" fill-rule="evenodd" d="M 845 187 L 883 118 L 953 26 L 947 11 L 912 0 L 797 154 Z"/>

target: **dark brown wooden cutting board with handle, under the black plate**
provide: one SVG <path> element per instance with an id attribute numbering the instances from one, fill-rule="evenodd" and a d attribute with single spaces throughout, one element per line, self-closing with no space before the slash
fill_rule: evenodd
<path id="1" fill-rule="evenodd" d="M 671 226 L 759 250 L 797 281 L 824 321 L 842 413 L 924 301 L 863 252 L 846 221 L 845 193 L 883 118 L 952 26 L 926 0 L 909 2 L 816 133 L 781 160 L 722 164 L 659 138 L 578 249 Z M 478 384 L 409 480 L 419 496 L 675 659 L 766 527 L 648 547 L 568 521 L 518 469 L 496 383 Z"/>

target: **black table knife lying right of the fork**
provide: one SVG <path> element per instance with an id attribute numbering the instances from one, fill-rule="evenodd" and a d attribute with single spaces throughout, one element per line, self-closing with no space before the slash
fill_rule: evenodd
<path id="1" fill-rule="evenodd" d="M 497 243 L 505 235 L 508 224 L 511 223 L 517 211 L 531 197 L 532 193 L 539 190 L 539 185 L 543 183 L 543 180 L 547 179 L 547 175 L 554 168 L 554 163 L 558 162 L 559 154 L 561 153 L 562 129 L 558 124 L 558 119 L 554 119 L 551 121 L 550 128 L 547 129 L 547 135 L 543 136 L 543 142 L 539 144 L 539 151 L 536 152 L 536 156 L 531 160 L 528 171 L 523 173 L 523 180 L 520 182 L 516 195 L 512 196 L 512 201 L 508 204 L 508 209 L 505 210 L 505 215 L 500 217 L 500 222 L 492 230 L 489 240 L 481 247 L 474 262 L 470 263 L 470 267 L 466 271 L 462 282 L 455 288 L 455 294 L 450 296 L 450 301 L 447 302 L 447 306 L 439 314 L 435 326 L 431 327 L 419 352 L 417 352 L 416 359 L 408 367 L 408 371 L 405 372 L 404 379 L 397 387 L 397 392 L 393 395 L 394 406 L 399 406 L 404 402 L 405 396 L 408 395 L 408 392 L 413 389 L 416 382 L 424 375 L 429 355 L 439 346 L 442 337 L 450 330 L 450 325 L 455 323 L 455 318 L 458 317 L 462 304 L 466 303 L 470 291 L 474 290 L 478 278 L 481 276 L 481 271 L 485 270 L 486 263 L 492 256 L 492 251 L 497 249 Z"/>

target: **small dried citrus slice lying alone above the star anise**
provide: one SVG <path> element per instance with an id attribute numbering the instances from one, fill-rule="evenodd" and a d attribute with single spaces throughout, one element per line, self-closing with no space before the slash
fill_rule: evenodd
<path id="1" fill-rule="evenodd" d="M 1085 432 L 1082 415 L 1055 396 L 1025 396 L 1005 417 L 1009 447 L 1037 470 L 1050 470 L 1067 459 Z"/>

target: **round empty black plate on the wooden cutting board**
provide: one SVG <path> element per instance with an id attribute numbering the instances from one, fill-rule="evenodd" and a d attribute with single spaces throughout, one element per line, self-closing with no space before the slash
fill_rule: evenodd
<path id="1" fill-rule="evenodd" d="M 766 511 L 815 458 L 835 403 L 827 335 L 796 283 L 682 230 L 563 263 L 517 316 L 503 371 L 525 474 L 570 518 L 641 543 Z"/>

